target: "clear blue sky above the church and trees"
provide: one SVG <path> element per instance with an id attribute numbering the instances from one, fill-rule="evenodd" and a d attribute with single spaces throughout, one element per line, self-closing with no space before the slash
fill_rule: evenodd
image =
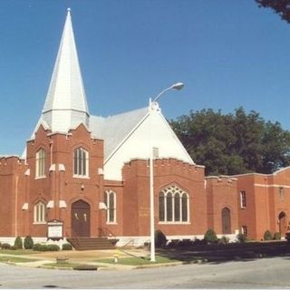
<path id="1" fill-rule="evenodd" d="M 21 154 L 38 120 L 67 7 L 92 114 L 160 99 L 175 119 L 243 106 L 290 130 L 290 24 L 254 0 L 1 0 L 0 154 Z"/>

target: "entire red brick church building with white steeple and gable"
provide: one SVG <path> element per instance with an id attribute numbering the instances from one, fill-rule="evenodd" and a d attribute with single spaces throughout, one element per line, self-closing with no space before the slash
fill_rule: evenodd
<path id="1" fill-rule="evenodd" d="M 154 224 L 169 239 L 202 238 L 208 228 L 232 239 L 238 232 L 261 239 L 267 229 L 284 235 L 290 169 L 205 177 L 158 102 L 107 118 L 90 114 L 68 9 L 43 111 L 24 154 L 0 157 L 0 241 L 30 235 L 39 242 L 149 242 L 152 150 Z"/>

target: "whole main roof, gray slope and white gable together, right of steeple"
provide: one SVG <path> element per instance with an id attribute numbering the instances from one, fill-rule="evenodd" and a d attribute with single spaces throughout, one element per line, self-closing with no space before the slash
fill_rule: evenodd
<path id="1" fill-rule="evenodd" d="M 150 158 L 157 148 L 159 158 L 177 159 L 195 164 L 164 118 L 157 103 L 108 118 L 92 116 L 93 136 L 104 140 L 104 178 L 122 180 L 125 162 Z"/>

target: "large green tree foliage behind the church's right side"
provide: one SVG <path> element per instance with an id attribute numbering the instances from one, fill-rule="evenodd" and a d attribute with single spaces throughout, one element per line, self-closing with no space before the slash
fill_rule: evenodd
<path id="1" fill-rule="evenodd" d="M 256 111 L 190 111 L 170 125 L 206 174 L 272 173 L 290 165 L 290 132 Z"/>

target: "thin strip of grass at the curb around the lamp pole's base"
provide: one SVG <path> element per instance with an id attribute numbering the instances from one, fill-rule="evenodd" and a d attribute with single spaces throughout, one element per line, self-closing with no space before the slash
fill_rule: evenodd
<path id="1" fill-rule="evenodd" d="M 165 257 L 165 256 L 156 256 L 156 262 L 151 262 L 149 256 L 146 256 L 146 257 L 128 256 L 128 257 L 120 257 L 117 263 L 114 262 L 113 258 L 99 259 L 99 260 L 96 260 L 95 262 L 102 262 L 102 263 L 109 263 L 109 264 L 120 264 L 120 265 L 130 265 L 130 266 L 140 266 L 140 265 L 179 262 L 179 260 L 170 259 L 170 258 Z"/>

